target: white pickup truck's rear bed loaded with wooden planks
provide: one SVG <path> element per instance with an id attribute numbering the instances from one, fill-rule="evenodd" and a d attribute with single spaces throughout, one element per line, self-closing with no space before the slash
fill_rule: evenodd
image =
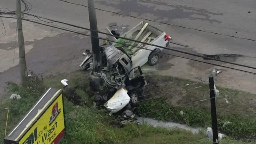
<path id="1" fill-rule="evenodd" d="M 109 28 L 106 28 L 106 30 L 107 30 L 107 33 L 112 35 L 117 35 L 124 38 L 137 40 L 145 43 L 150 43 L 154 45 L 159 45 L 163 47 L 167 47 L 169 44 L 168 40 L 172 39 L 165 32 L 162 32 L 161 30 L 149 25 L 148 23 L 144 23 L 143 21 L 122 35 L 118 34 L 114 30 L 109 30 Z M 149 65 L 157 64 L 160 58 L 160 54 L 158 52 L 163 50 L 163 48 L 159 48 L 151 45 L 144 45 L 141 43 L 125 40 L 115 36 L 108 35 L 107 38 L 110 40 L 108 41 L 109 44 L 112 44 L 115 47 L 122 47 L 124 49 L 124 51 L 131 58 L 133 67 L 137 67 L 137 66 L 141 67 L 145 63 L 148 63 Z M 111 41 L 114 41 L 114 42 L 111 42 Z M 131 45 L 131 46 L 127 46 L 125 44 Z"/>

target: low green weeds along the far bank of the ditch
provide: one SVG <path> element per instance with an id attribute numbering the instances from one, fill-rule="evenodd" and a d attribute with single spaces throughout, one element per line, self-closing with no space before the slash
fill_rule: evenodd
<path id="1" fill-rule="evenodd" d="M 211 114 L 204 109 L 191 106 L 169 107 L 172 106 L 168 105 L 163 98 L 148 100 L 140 103 L 137 114 L 147 113 L 143 116 L 164 121 L 174 120 L 195 127 L 211 127 Z M 164 110 L 150 113 L 159 109 Z M 184 112 L 183 115 L 180 114 L 181 110 Z M 229 114 L 217 115 L 217 117 L 219 131 L 232 138 L 254 138 L 256 136 L 256 121 L 252 119 Z M 226 121 L 232 123 L 223 127 Z"/>

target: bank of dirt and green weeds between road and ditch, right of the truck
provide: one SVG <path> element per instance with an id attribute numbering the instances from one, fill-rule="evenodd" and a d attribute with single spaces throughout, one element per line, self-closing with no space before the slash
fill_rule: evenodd
<path id="1" fill-rule="evenodd" d="M 208 84 L 195 84 L 194 81 L 171 76 L 151 75 L 147 78 L 149 85 L 150 83 L 154 85 L 149 86 L 146 94 L 150 95 L 146 98 L 152 99 L 140 103 L 136 114 L 148 113 L 144 116 L 164 121 L 174 120 L 194 127 L 211 127 L 210 100 L 191 103 L 209 98 Z M 217 88 L 220 90 L 220 97 L 216 98 L 219 131 L 235 139 L 255 138 L 256 115 L 248 107 L 256 109 L 255 103 L 251 100 L 255 99 L 256 95 L 222 87 Z M 167 91 L 154 94 L 163 90 Z M 229 103 L 226 103 L 223 98 L 228 99 Z M 246 106 L 237 99 L 246 103 Z M 164 110 L 158 111 L 159 109 Z M 180 115 L 181 110 L 184 115 Z M 223 127 L 226 121 L 231 123 Z"/>

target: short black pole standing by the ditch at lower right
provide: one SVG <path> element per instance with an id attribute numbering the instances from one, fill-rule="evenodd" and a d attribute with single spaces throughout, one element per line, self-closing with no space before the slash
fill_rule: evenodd
<path id="1" fill-rule="evenodd" d="M 212 136 L 213 144 L 218 144 L 218 123 L 215 105 L 215 90 L 214 90 L 214 76 L 209 76 L 209 86 L 210 86 L 210 98 L 211 98 L 211 114 L 212 114 Z"/>

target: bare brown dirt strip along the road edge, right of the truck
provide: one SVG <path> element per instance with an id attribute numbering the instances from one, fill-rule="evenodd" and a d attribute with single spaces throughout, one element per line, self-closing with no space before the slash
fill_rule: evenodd
<path id="1" fill-rule="evenodd" d="M 165 98 L 166 102 L 172 106 L 186 104 L 185 106 L 203 108 L 210 112 L 209 100 L 191 103 L 209 98 L 208 83 L 197 83 L 171 76 L 147 75 L 145 77 L 148 82 L 148 89 L 144 99 Z M 256 119 L 256 115 L 252 115 L 253 111 L 256 111 L 255 94 L 218 86 L 217 89 L 220 90 L 220 96 L 216 98 L 218 113 Z"/>

